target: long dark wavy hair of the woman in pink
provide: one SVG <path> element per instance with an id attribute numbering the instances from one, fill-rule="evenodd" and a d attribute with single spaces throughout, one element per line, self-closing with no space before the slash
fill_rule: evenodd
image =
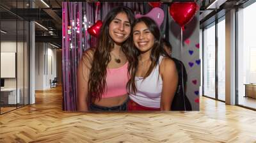
<path id="1" fill-rule="evenodd" d="M 102 98 L 102 93 L 104 93 L 106 88 L 106 73 L 108 63 L 111 61 L 110 52 L 113 50 L 115 41 L 109 35 L 109 24 L 113 19 L 115 19 L 118 13 L 126 13 L 132 30 L 132 25 L 134 22 L 134 13 L 130 8 L 125 6 L 117 6 L 109 11 L 106 15 L 102 27 L 100 29 L 100 36 L 95 48 L 92 68 L 90 69 L 90 75 L 88 80 L 88 105 L 95 102 L 95 100 L 100 100 Z M 132 31 L 131 31 L 132 33 Z M 129 43 L 132 41 L 132 34 L 129 34 L 129 38 L 122 44 L 122 51 L 124 52 L 128 62 L 132 62 L 132 53 L 129 48 Z M 127 73 L 128 75 L 129 73 Z"/>

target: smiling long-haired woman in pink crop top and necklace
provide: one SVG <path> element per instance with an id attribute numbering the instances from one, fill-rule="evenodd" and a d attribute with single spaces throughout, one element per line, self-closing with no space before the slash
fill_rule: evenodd
<path id="1" fill-rule="evenodd" d="M 95 49 L 84 52 L 77 72 L 77 110 L 127 110 L 129 62 L 128 43 L 134 14 L 125 6 L 109 11 Z"/>

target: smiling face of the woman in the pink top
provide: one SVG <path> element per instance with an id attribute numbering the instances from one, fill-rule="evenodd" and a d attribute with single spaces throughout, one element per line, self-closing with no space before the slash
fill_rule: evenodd
<path id="1" fill-rule="evenodd" d="M 109 36 L 116 44 L 122 44 L 131 33 L 131 24 L 126 13 L 118 13 L 109 24 Z"/>

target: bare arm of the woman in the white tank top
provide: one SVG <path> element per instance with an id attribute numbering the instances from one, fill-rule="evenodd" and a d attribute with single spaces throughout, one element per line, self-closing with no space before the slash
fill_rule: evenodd
<path id="1" fill-rule="evenodd" d="M 170 110 L 178 84 L 178 73 L 172 59 L 163 59 L 160 64 L 160 74 L 163 79 L 161 110 Z"/>

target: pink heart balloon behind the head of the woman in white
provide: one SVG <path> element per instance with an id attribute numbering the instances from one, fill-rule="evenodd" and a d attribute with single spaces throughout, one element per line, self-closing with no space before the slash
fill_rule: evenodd
<path id="1" fill-rule="evenodd" d="M 140 17 L 149 17 L 150 19 L 153 19 L 160 28 L 164 20 L 164 11 L 161 8 L 152 8 L 146 15 L 135 15 L 136 19 L 139 19 Z"/>

